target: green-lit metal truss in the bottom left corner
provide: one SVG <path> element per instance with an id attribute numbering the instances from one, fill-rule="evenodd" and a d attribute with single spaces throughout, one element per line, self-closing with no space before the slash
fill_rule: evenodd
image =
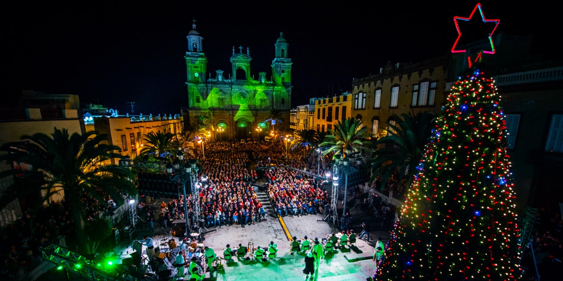
<path id="1" fill-rule="evenodd" d="M 96 264 L 79 253 L 56 244 L 42 248 L 41 252 L 43 260 L 52 262 L 55 266 L 70 270 L 88 280 L 124 280 L 126 274 L 126 271 L 119 266 L 114 265 L 111 270 L 104 269 L 101 264 Z"/>

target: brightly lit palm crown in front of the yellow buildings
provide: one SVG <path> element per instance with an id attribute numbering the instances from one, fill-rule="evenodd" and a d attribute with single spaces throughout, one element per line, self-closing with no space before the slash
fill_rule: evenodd
<path id="1" fill-rule="evenodd" d="M 333 152 L 334 155 L 346 157 L 345 151 L 368 152 L 368 140 L 366 138 L 367 127 L 361 124 L 361 120 L 354 120 L 348 117 L 346 120 L 339 120 L 334 125 L 334 130 L 329 129 L 320 146 L 323 148 L 323 155 Z"/>

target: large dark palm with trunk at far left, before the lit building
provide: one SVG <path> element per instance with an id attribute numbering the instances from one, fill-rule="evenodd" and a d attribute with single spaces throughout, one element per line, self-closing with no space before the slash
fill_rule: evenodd
<path id="1" fill-rule="evenodd" d="M 89 139 L 91 138 L 91 139 Z M 84 215 L 81 198 L 86 194 L 104 202 L 103 193 L 112 198 L 121 198 L 120 193 L 135 194 L 132 173 L 119 165 L 106 164 L 113 158 L 123 158 L 117 146 L 105 144 L 106 135 L 94 132 L 69 135 L 68 130 L 55 128 L 51 136 L 43 133 L 23 135 L 21 142 L 5 143 L 0 151 L 0 161 L 25 163 L 29 170 L 7 170 L 0 178 L 23 174 L 32 182 L 16 182 L 6 189 L 0 197 L 0 207 L 6 206 L 16 198 L 34 196 L 44 191 L 64 193 L 65 201 L 72 208 L 79 250 L 87 246 L 87 233 L 84 231 Z M 116 200 L 116 203 L 122 203 Z M 42 203 L 42 202 L 40 202 Z"/>

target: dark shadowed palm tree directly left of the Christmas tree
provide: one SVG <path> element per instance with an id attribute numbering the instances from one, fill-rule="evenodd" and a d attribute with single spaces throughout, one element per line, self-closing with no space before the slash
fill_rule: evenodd
<path id="1" fill-rule="evenodd" d="M 395 173 L 399 182 L 413 177 L 432 133 L 435 117 L 431 112 L 391 116 L 387 123 L 389 132 L 393 133 L 372 144 L 376 150 L 369 162 L 374 172 L 371 180 L 381 176 L 381 190 Z M 395 121 L 395 125 L 391 121 Z"/>

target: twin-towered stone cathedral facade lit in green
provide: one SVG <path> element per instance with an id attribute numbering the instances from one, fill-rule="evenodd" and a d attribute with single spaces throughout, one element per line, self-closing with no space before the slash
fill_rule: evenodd
<path id="1" fill-rule="evenodd" d="M 291 108 L 291 58 L 287 40 L 280 33 L 276 40 L 275 57 L 271 64 L 270 80 L 266 72 L 259 72 L 258 79 L 251 75 L 251 60 L 248 47 L 230 58 L 229 71 L 215 70 L 215 77 L 207 70 L 207 58 L 203 52 L 203 37 L 193 29 L 187 35 L 188 51 L 184 56 L 187 70 L 187 108 L 189 120 L 198 115 L 211 118 L 216 140 L 263 139 L 272 129 L 270 112 L 278 111 L 282 120 L 276 121 L 274 129 L 289 128 Z M 258 129 L 260 128 L 260 129 Z"/>

